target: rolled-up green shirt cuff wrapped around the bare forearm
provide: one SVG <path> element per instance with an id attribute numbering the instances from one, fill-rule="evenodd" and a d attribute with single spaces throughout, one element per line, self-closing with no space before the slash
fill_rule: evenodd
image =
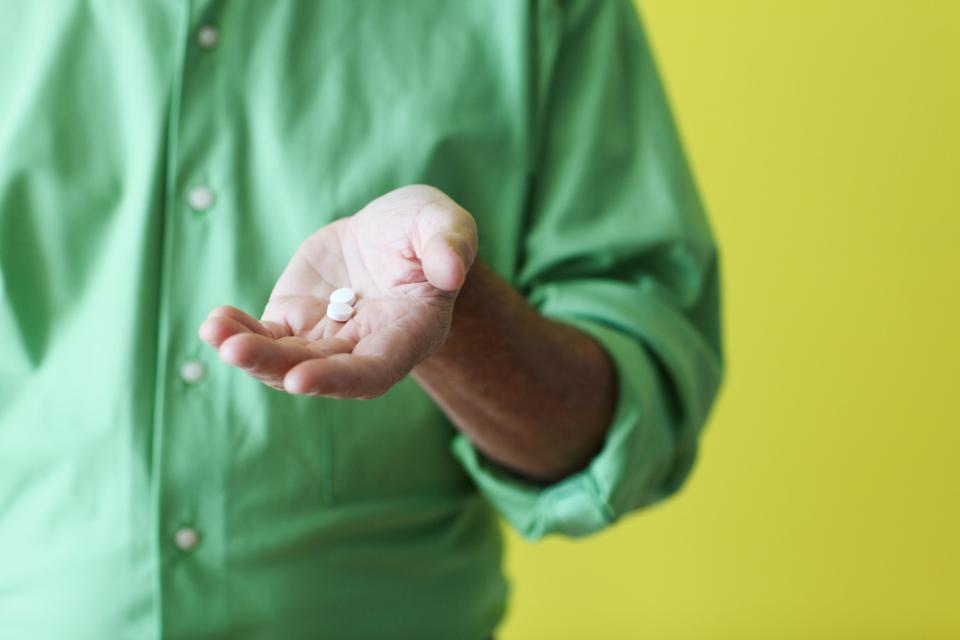
<path id="1" fill-rule="evenodd" d="M 451 443 L 477 488 L 521 536 L 581 537 L 606 528 L 620 516 L 665 497 L 662 485 L 674 463 L 674 438 L 658 409 L 644 402 L 659 382 L 650 355 L 635 337 L 593 318 L 542 309 L 592 336 L 617 371 L 618 395 L 603 448 L 581 471 L 554 483 L 537 484 L 483 454 L 464 434 Z"/>

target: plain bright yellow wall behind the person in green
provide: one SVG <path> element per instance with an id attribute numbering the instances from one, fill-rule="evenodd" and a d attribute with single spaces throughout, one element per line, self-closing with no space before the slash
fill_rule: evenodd
<path id="1" fill-rule="evenodd" d="M 720 241 L 686 488 L 509 537 L 498 635 L 960 638 L 960 2 L 640 2 Z"/>

